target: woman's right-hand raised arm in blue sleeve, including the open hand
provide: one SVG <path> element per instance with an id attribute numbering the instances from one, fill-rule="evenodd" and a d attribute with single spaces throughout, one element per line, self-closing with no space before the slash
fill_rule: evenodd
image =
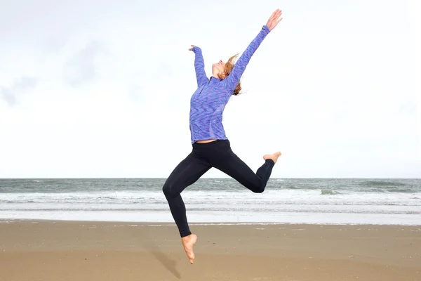
<path id="1" fill-rule="evenodd" d="M 282 20 L 282 18 L 280 18 L 281 15 L 282 11 L 279 9 L 272 13 L 271 17 L 267 21 L 267 24 L 263 25 L 262 30 L 260 30 L 258 36 L 255 37 L 253 41 L 251 41 L 251 43 L 246 48 L 246 51 L 244 51 L 239 60 L 237 60 L 234 67 L 232 68 L 231 73 L 229 73 L 227 78 L 225 78 L 227 87 L 229 89 L 235 89 L 236 85 L 239 84 L 241 76 L 243 75 L 244 70 L 246 70 L 246 66 L 250 61 L 251 56 L 258 49 L 267 34 L 269 34 L 269 32 L 271 32 L 274 27 L 276 27 L 276 25 Z"/>

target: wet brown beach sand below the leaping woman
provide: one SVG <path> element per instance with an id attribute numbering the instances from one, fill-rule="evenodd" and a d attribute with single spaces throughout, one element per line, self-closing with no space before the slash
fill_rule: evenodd
<path id="1" fill-rule="evenodd" d="M 0 221 L 1 281 L 421 280 L 421 226 Z"/>

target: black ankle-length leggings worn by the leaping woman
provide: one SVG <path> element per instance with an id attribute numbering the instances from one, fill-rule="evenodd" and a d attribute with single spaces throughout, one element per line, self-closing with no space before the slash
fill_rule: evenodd
<path id="1" fill-rule="evenodd" d="M 267 159 L 255 174 L 232 152 L 228 140 L 193 143 L 192 152 L 175 167 L 162 188 L 181 237 L 192 233 L 189 230 L 186 207 L 180 193 L 195 183 L 206 171 L 215 167 L 249 190 L 260 193 L 265 190 L 273 166 L 272 159 Z"/>

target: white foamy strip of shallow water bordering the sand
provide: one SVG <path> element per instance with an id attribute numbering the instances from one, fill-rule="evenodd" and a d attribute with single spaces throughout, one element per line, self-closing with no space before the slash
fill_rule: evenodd
<path id="1" fill-rule="evenodd" d="M 133 223 L 173 223 L 170 210 L 96 210 L 96 211 L 0 211 L 0 220 L 28 219 L 55 221 L 122 221 Z M 333 225 L 421 225 L 420 214 L 361 214 L 285 211 L 193 211 L 187 209 L 189 223 L 293 223 Z"/>

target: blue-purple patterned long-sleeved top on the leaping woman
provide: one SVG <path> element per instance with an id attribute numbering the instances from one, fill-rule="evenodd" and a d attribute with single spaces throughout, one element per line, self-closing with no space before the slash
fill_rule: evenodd
<path id="1" fill-rule="evenodd" d="M 201 48 L 195 46 L 194 69 L 198 89 L 190 99 L 190 133 L 192 143 L 210 139 L 226 140 L 224 126 L 222 126 L 222 113 L 229 98 L 234 93 L 236 85 L 239 84 L 241 75 L 250 61 L 251 56 L 260 46 L 263 39 L 269 34 L 269 28 L 264 25 L 262 30 L 246 51 L 240 56 L 234 65 L 231 73 L 225 79 L 206 77 L 205 65 Z"/>

